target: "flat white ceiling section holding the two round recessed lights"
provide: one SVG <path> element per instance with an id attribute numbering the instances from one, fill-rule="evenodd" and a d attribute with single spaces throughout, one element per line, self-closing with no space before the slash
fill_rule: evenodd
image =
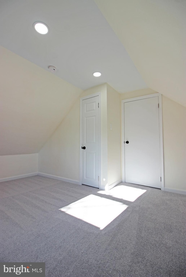
<path id="1" fill-rule="evenodd" d="M 34 30 L 36 21 L 49 26 L 47 35 Z M 56 76 L 83 90 L 147 87 L 94 0 L 0 0 L 0 45 L 46 70 L 54 65 Z"/>

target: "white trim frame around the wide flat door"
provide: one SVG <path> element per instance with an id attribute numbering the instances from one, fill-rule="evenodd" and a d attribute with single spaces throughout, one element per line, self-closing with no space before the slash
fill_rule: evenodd
<path id="1" fill-rule="evenodd" d="M 121 100 L 121 171 L 122 171 L 122 182 L 125 183 L 125 129 L 124 129 L 124 103 L 131 102 L 151 97 L 158 96 L 159 102 L 159 131 L 160 131 L 160 176 L 161 176 L 161 190 L 164 190 L 164 166 L 163 166 L 163 124 L 162 124 L 162 94 L 153 93 L 149 95 L 134 97 L 130 99 Z"/>

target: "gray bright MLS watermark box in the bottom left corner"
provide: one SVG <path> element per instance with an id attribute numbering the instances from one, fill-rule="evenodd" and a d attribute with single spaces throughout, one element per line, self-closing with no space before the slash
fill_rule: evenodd
<path id="1" fill-rule="evenodd" d="M 45 262 L 0 262 L 0 276 L 45 277 Z"/>

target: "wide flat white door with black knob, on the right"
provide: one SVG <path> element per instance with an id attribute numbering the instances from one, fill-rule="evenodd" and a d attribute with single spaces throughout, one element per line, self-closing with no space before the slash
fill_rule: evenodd
<path id="1" fill-rule="evenodd" d="M 125 182 L 161 188 L 158 96 L 124 103 Z"/>

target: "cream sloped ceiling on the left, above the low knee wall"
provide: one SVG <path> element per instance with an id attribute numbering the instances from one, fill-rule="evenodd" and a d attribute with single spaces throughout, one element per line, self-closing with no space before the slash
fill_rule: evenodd
<path id="1" fill-rule="evenodd" d="M 0 46 L 0 156 L 38 153 L 82 90 Z"/>

